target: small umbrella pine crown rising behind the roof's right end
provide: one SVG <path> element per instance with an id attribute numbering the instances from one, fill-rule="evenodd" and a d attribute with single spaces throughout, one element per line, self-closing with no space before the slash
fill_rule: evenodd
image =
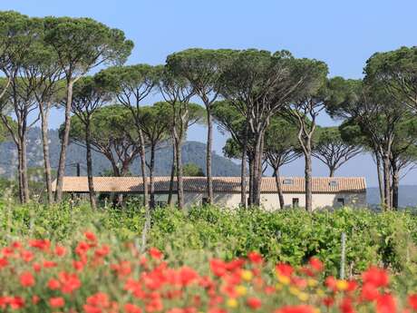
<path id="1" fill-rule="evenodd" d="M 338 127 L 318 128 L 312 155 L 325 163 L 329 169 L 329 177 L 345 162 L 362 152 L 359 145 L 344 141 Z"/>

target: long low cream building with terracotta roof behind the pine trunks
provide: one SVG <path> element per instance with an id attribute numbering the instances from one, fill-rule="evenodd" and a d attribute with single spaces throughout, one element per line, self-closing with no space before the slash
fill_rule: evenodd
<path id="1" fill-rule="evenodd" d="M 286 207 L 305 207 L 305 179 L 284 177 L 280 179 Z M 141 194 L 140 177 L 94 177 L 94 191 L 113 194 Z M 55 184 L 53 184 L 54 186 Z M 174 193 L 176 191 L 174 181 Z M 63 191 L 88 192 L 86 177 L 64 177 Z M 163 206 L 168 201 L 170 177 L 155 177 L 155 201 Z M 230 209 L 240 204 L 240 177 L 213 178 L 214 204 Z M 200 205 L 207 200 L 205 177 L 184 177 L 185 205 Z M 174 200 L 176 195 L 174 194 Z M 276 179 L 263 177 L 261 206 L 265 210 L 279 209 Z M 342 206 L 364 208 L 366 206 L 366 183 L 363 177 L 314 177 L 313 209 Z"/>

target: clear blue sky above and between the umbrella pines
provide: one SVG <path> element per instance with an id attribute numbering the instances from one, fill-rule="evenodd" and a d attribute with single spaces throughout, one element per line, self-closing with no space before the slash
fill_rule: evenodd
<path id="1" fill-rule="evenodd" d="M 129 64 L 161 64 L 168 54 L 189 47 L 286 49 L 297 57 L 323 60 L 331 76 L 347 78 L 362 77 L 374 52 L 416 45 L 417 34 L 415 0 L 0 0 L 0 10 L 88 16 L 120 28 L 135 43 Z M 53 127 L 63 121 L 62 115 L 54 112 Z M 335 124 L 327 116 L 320 122 Z M 189 133 L 189 140 L 205 138 L 202 127 Z M 225 140 L 216 133 L 218 153 Z M 326 174 L 320 164 L 314 165 L 315 175 Z M 402 183 L 417 184 L 416 173 Z M 287 166 L 284 174 L 302 175 L 303 161 Z M 376 185 L 369 156 L 350 161 L 337 174 L 364 175 L 368 185 Z"/>

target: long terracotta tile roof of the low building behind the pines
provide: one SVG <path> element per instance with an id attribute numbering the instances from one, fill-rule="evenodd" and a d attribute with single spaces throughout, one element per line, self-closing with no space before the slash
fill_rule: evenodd
<path id="1" fill-rule="evenodd" d="M 94 177 L 94 190 L 97 192 L 141 192 L 143 190 L 140 177 Z M 304 193 L 305 179 L 303 177 L 281 178 L 282 189 L 286 193 Z M 53 182 L 53 190 L 56 181 Z M 167 192 L 170 188 L 170 177 L 155 177 L 155 191 Z M 176 190 L 174 183 L 174 190 Z M 273 177 L 262 179 L 263 193 L 276 193 L 276 181 Z M 215 192 L 240 192 L 240 177 L 213 177 L 213 189 Z M 63 191 L 86 192 L 88 191 L 87 177 L 67 176 L 63 178 Z M 184 191 L 206 191 L 205 177 L 184 177 Z M 313 192 L 337 193 L 337 192 L 365 192 L 366 184 L 363 177 L 314 177 Z"/>

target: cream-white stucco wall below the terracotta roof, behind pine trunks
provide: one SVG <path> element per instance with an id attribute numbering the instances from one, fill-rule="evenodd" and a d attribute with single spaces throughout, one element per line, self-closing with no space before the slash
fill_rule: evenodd
<path id="1" fill-rule="evenodd" d="M 186 206 L 199 205 L 203 200 L 203 193 L 185 192 Z M 174 201 L 177 196 L 174 195 Z M 298 206 L 305 207 L 304 193 L 285 193 L 284 202 L 286 206 L 292 207 L 293 199 L 298 199 Z M 338 199 L 344 199 L 344 205 L 349 207 L 364 208 L 366 206 L 366 193 L 313 193 L 313 209 L 338 207 Z M 168 201 L 167 194 L 158 194 L 155 197 L 156 201 Z M 240 203 L 240 194 L 238 193 L 215 193 L 214 203 L 228 208 L 237 208 Z M 266 210 L 279 209 L 279 201 L 277 193 L 263 193 L 261 194 L 261 203 Z"/>

